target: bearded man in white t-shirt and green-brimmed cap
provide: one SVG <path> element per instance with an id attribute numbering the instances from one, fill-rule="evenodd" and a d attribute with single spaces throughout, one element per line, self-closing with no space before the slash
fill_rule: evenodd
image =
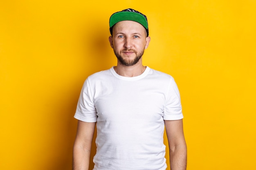
<path id="1" fill-rule="evenodd" d="M 88 170 L 94 127 L 94 170 L 166 170 L 164 126 L 171 170 L 186 169 L 180 94 L 170 75 L 142 65 L 148 22 L 133 9 L 110 17 L 110 46 L 117 66 L 90 75 L 75 118 L 73 170 Z"/>

